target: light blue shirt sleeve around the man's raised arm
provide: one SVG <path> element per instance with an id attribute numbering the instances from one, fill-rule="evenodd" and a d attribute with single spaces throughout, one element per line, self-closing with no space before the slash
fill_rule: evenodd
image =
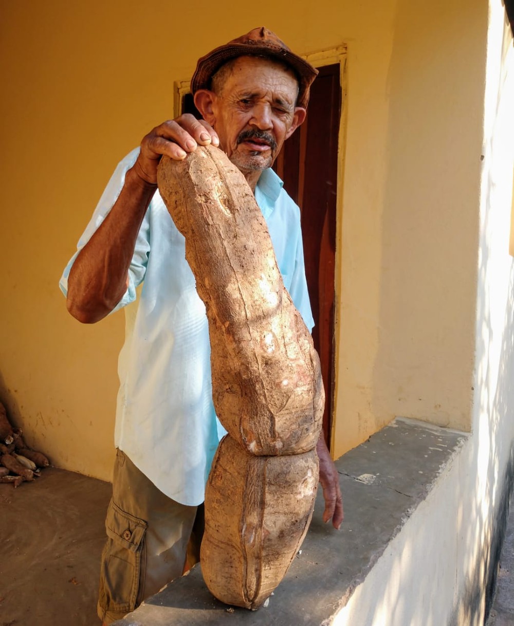
<path id="1" fill-rule="evenodd" d="M 125 183 L 126 172 L 134 165 L 138 154 L 139 148 L 136 148 L 126 155 L 120 163 L 118 163 L 118 167 L 116 167 L 111 180 L 108 182 L 104 192 L 102 193 L 100 201 L 98 202 L 98 205 L 96 205 L 93 217 L 91 217 L 86 230 L 82 233 L 78 241 L 77 251 L 69 260 L 68 265 L 64 268 L 61 280 L 59 280 L 59 287 L 64 295 L 68 294 L 69 271 L 71 270 L 77 255 L 91 239 L 97 228 L 100 227 L 100 224 L 103 220 L 105 220 L 106 216 L 110 213 L 110 210 L 118 199 L 121 189 L 123 188 L 123 184 Z M 128 269 L 127 290 L 111 313 L 121 309 L 121 307 L 124 307 L 126 304 L 129 304 L 136 299 L 136 287 L 141 284 L 145 277 L 148 252 L 150 251 L 150 222 L 148 219 L 148 212 L 149 210 L 146 211 L 146 215 L 143 218 L 143 222 L 141 223 L 138 237 L 136 239 L 134 254 Z"/>

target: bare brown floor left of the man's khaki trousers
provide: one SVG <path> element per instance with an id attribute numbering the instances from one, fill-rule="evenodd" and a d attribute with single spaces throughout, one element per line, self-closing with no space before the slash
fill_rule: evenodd
<path id="1" fill-rule="evenodd" d="M 0 484 L 0 626 L 100 626 L 96 594 L 110 483 L 46 468 Z"/>

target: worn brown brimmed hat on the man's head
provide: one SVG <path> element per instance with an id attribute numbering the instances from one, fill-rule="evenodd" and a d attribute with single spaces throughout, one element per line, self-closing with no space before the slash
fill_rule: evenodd
<path id="1" fill-rule="evenodd" d="M 283 41 L 264 26 L 254 28 L 249 33 L 232 39 L 229 43 L 213 49 L 198 59 L 197 69 L 191 79 L 191 91 L 194 94 L 199 89 L 209 89 L 210 80 L 226 61 L 237 56 L 263 56 L 278 59 L 290 66 L 296 73 L 299 84 L 298 106 L 306 108 L 309 102 L 309 88 L 317 76 L 317 69 L 313 68 L 301 56 L 290 51 Z"/>

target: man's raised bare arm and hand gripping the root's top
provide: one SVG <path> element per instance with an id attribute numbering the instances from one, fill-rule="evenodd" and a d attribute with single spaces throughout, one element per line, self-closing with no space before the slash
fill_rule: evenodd
<path id="1" fill-rule="evenodd" d="M 162 155 L 182 160 L 198 144 L 218 145 L 215 131 L 203 120 L 183 115 L 154 128 L 141 141 L 120 195 L 71 267 L 68 310 L 80 322 L 103 319 L 125 294 L 128 268 L 146 209 L 157 189 Z"/>

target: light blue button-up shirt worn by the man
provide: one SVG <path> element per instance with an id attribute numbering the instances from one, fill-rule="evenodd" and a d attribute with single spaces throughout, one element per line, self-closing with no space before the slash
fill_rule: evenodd
<path id="1" fill-rule="evenodd" d="M 116 202 L 138 151 L 131 151 L 119 163 L 78 242 L 78 251 Z M 260 175 L 255 199 L 267 222 L 285 288 L 312 331 L 299 208 L 272 170 Z M 64 295 L 76 254 L 59 282 Z M 138 233 L 128 289 L 114 310 L 122 307 L 126 336 L 118 361 L 115 445 L 167 496 L 198 505 L 203 502 L 212 458 L 225 431 L 212 404 L 205 307 L 185 260 L 185 239 L 158 192 Z"/>

